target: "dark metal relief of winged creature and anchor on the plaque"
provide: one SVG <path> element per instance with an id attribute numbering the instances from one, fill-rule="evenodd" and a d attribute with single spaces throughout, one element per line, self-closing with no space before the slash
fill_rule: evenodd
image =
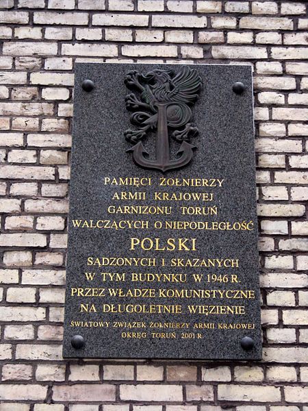
<path id="1" fill-rule="evenodd" d="M 190 122 L 191 106 L 201 89 L 201 77 L 194 69 L 183 66 L 177 73 L 170 69 L 153 70 L 146 75 L 129 71 L 125 85 L 130 93 L 125 97 L 127 110 L 133 112 L 130 121 L 138 127 L 124 132 L 127 141 L 133 144 L 127 150 L 133 153 L 133 161 L 144 169 L 157 169 L 162 172 L 179 169 L 188 164 L 196 146 L 190 144 L 198 129 Z M 157 130 L 156 158 L 151 160 L 142 140 L 150 131 Z M 171 138 L 181 143 L 177 158 L 170 158 Z"/>

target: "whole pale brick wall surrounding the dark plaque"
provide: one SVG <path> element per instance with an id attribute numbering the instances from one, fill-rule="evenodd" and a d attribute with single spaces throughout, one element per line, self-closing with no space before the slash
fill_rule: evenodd
<path id="1" fill-rule="evenodd" d="M 308 411 L 307 2 L 0 8 L 0 411 Z M 62 360 L 73 66 L 108 61 L 252 64 L 263 362 Z"/>

